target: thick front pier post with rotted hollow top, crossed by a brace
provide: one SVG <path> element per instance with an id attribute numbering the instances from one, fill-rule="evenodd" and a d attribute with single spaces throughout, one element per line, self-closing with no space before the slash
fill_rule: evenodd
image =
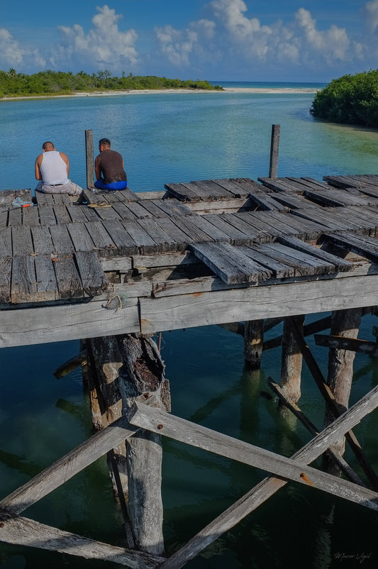
<path id="1" fill-rule="evenodd" d="M 152 338 L 126 334 L 121 337 L 119 346 L 123 355 L 123 366 L 119 370 L 123 411 L 131 407 L 135 398 L 145 399 L 151 394 L 155 394 L 170 411 L 165 365 Z M 126 449 L 128 510 L 135 543 L 141 551 L 162 555 L 161 436 L 151 431 L 138 431 L 130 438 Z"/>

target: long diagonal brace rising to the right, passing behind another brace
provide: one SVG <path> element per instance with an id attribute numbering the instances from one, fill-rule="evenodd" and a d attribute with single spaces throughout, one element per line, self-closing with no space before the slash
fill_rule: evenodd
<path id="1" fill-rule="evenodd" d="M 369 398 L 369 396 L 370 394 L 367 394 L 357 405 L 362 404 L 363 406 L 366 398 Z M 359 410 L 360 409 L 356 406 L 351 407 L 341 419 L 339 418 L 334 421 L 332 425 L 324 429 L 322 433 L 313 438 L 312 441 L 302 447 L 291 458 L 301 463 L 311 463 L 318 458 L 321 453 L 326 451 L 326 448 L 331 446 L 333 441 L 337 440 L 336 436 L 340 437 L 343 434 L 340 433 L 340 423 L 344 424 L 344 428 L 348 426 L 349 429 L 352 429 L 352 427 L 362 419 L 362 416 L 357 412 Z M 365 413 L 365 409 L 362 413 Z M 350 421 L 350 416 L 354 416 L 355 420 Z M 333 438 L 333 436 L 335 436 L 335 438 Z M 167 559 L 167 561 L 161 565 L 161 569 L 177 569 L 182 567 L 184 563 L 194 558 L 202 549 L 209 546 L 209 544 L 216 541 L 219 536 L 238 524 L 241 519 L 257 509 L 257 507 L 286 484 L 287 482 L 285 480 L 280 480 L 277 477 L 265 478 L 259 482 L 252 490 L 238 499 L 235 504 L 226 509 L 225 512 L 222 512 L 220 516 L 211 521 L 210 524 L 199 531 L 199 533 L 191 538 L 179 551 Z"/>

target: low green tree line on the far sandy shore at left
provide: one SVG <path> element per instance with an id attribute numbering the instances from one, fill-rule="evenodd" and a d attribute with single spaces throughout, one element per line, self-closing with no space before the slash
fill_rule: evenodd
<path id="1" fill-rule="evenodd" d="M 74 92 L 114 91 L 133 89 L 222 89 L 208 81 L 181 80 L 121 73 L 116 77 L 109 70 L 88 74 L 79 71 L 40 71 L 32 75 L 16 70 L 0 70 L 0 96 L 64 95 Z"/>

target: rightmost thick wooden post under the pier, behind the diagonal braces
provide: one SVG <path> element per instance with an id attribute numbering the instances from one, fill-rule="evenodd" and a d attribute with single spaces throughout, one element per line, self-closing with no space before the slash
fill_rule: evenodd
<path id="1" fill-rule="evenodd" d="M 333 336 L 344 336 L 345 338 L 357 338 L 360 327 L 362 309 L 338 310 L 332 314 L 332 324 L 330 333 Z M 333 392 L 335 402 L 338 404 L 340 412 L 348 409 L 350 389 L 353 378 L 353 361 L 355 352 L 330 348 L 328 353 L 328 380 L 327 383 Z M 326 411 L 325 426 L 333 421 L 333 414 Z M 336 450 L 343 455 L 345 451 L 345 438 L 334 444 Z"/>

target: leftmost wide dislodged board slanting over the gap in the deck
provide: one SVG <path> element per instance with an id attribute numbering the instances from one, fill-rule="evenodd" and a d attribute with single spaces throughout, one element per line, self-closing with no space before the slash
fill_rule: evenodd
<path id="1" fill-rule="evenodd" d="M 204 261 L 227 284 L 257 282 L 272 275 L 258 263 L 243 255 L 229 243 L 198 243 L 190 246 L 194 255 Z"/>

